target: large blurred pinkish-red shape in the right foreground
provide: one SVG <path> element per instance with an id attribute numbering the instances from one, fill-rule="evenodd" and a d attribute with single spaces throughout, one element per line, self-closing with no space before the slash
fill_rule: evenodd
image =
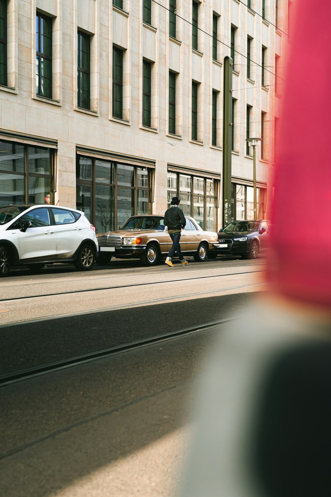
<path id="1" fill-rule="evenodd" d="M 283 295 L 330 306 L 331 3 L 300 0 L 293 8 L 276 137 L 272 279 Z"/>

